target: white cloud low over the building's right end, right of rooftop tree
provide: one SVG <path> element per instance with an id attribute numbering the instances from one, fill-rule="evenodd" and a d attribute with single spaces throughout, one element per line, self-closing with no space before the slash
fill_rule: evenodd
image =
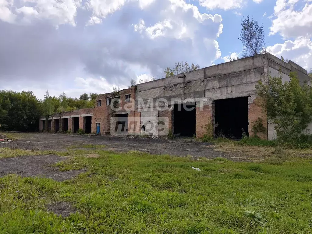
<path id="1" fill-rule="evenodd" d="M 312 41 L 307 37 L 298 37 L 294 41 L 285 41 L 283 44 L 268 46 L 271 54 L 294 61 L 306 70 L 312 68 Z"/>

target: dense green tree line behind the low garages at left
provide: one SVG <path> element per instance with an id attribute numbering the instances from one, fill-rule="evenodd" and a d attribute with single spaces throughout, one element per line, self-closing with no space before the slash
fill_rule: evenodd
<path id="1" fill-rule="evenodd" d="M 85 93 L 80 98 L 72 98 L 64 92 L 59 96 L 50 96 L 46 91 L 44 99 L 40 100 L 31 91 L 0 90 L 0 129 L 37 131 L 41 116 L 92 108 L 95 106 L 96 97 L 96 93 Z"/>

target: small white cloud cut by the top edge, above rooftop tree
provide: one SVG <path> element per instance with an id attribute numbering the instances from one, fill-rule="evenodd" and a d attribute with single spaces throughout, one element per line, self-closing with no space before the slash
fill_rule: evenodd
<path id="1" fill-rule="evenodd" d="M 241 8 L 245 3 L 244 0 L 198 0 L 200 5 L 207 7 L 210 10 L 219 8 L 223 10 L 229 10 L 233 8 Z M 255 2 L 260 2 L 259 0 L 254 0 Z"/>

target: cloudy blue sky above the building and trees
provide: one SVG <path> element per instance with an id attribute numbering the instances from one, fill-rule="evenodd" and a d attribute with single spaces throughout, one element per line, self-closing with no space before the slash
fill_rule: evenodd
<path id="1" fill-rule="evenodd" d="M 240 56 L 241 18 L 275 56 L 312 67 L 312 0 L 0 0 L 0 89 L 105 93 Z"/>

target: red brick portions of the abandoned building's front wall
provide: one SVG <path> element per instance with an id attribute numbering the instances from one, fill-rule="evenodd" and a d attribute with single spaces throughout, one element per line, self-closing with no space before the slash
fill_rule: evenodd
<path id="1" fill-rule="evenodd" d="M 41 119 L 39 128 L 43 129 L 43 121 L 45 121 L 45 130 L 49 130 L 52 132 L 56 131 L 56 122 L 59 122 L 59 131 L 64 131 L 62 128 L 63 121 L 67 121 L 68 118 L 68 131 L 74 131 L 74 118 L 79 117 L 79 129 L 85 130 L 85 116 L 92 116 L 91 122 L 91 132 L 96 133 L 97 123 L 100 123 L 100 133 L 101 134 L 110 134 L 110 120 L 111 117 L 118 116 L 118 114 L 127 114 L 128 115 L 128 134 L 141 134 L 141 126 L 137 126 L 137 119 L 141 119 L 141 112 L 138 112 L 135 108 L 135 94 L 136 87 L 131 87 L 129 89 L 121 90 L 117 97 L 119 96 L 119 104 L 115 105 L 115 108 L 119 108 L 118 110 L 112 110 L 111 105 L 107 105 L 107 99 L 114 98 L 113 93 L 101 94 L 98 96 L 97 100 L 95 100 L 95 107 L 89 109 L 75 110 L 71 112 L 55 114 L 48 119 Z M 126 102 L 126 95 L 130 95 L 130 101 Z M 127 96 L 129 97 L 129 96 Z M 98 101 L 100 101 L 99 106 Z M 248 132 L 249 135 L 252 136 L 252 126 L 253 121 L 256 121 L 259 117 L 262 119 L 262 123 L 266 128 L 266 132 L 257 133 L 257 135 L 261 139 L 267 139 L 267 114 L 266 111 L 261 107 L 261 100 L 259 98 L 248 98 Z M 168 132 L 173 133 L 173 110 L 163 110 L 158 111 L 158 117 L 166 117 L 168 118 Z M 206 130 L 204 126 L 207 125 L 208 121 L 212 124 L 212 135 L 214 132 L 214 102 L 212 100 L 206 101 L 202 104 L 202 107 L 196 106 L 196 137 L 200 138 L 206 134 Z M 76 120 L 76 119 L 75 119 Z M 136 121 L 135 121 L 136 120 Z M 51 122 L 50 122 L 51 121 Z M 134 124 L 136 122 L 136 125 Z M 51 128 L 49 128 L 49 123 L 51 123 Z M 142 123 L 139 122 L 140 125 Z M 166 123 L 167 124 L 167 123 Z"/>

